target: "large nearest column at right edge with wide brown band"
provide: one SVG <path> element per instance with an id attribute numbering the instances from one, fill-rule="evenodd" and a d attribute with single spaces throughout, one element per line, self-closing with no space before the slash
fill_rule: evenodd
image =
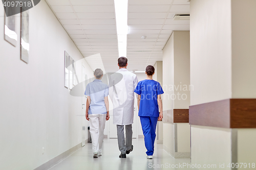
<path id="1" fill-rule="evenodd" d="M 255 163 L 255 8 L 252 0 L 190 1 L 192 164 Z"/>

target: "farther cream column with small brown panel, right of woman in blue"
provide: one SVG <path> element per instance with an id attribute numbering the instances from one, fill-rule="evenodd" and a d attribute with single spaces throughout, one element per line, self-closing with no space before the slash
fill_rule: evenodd
<path id="1" fill-rule="evenodd" d="M 163 148 L 190 158 L 189 31 L 174 31 L 163 49 Z"/>

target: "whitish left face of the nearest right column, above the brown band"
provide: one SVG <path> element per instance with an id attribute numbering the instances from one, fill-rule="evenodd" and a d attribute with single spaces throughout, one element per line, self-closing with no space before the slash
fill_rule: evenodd
<path id="1" fill-rule="evenodd" d="M 231 98 L 230 0 L 190 1 L 190 83 L 190 105 Z"/>

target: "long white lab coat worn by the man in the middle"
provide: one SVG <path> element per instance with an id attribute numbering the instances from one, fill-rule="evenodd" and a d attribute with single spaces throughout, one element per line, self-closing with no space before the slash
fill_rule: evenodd
<path id="1" fill-rule="evenodd" d="M 131 125 L 134 117 L 135 74 L 125 68 L 110 76 L 109 95 L 113 103 L 113 124 Z"/>

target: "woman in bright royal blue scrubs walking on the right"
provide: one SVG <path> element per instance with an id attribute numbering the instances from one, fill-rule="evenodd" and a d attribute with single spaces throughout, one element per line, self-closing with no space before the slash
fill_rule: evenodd
<path id="1" fill-rule="evenodd" d="M 134 92 L 138 94 L 140 123 L 144 135 L 147 159 L 152 159 L 156 139 L 157 121 L 163 118 L 161 94 L 163 89 L 159 82 L 153 80 L 155 68 L 146 67 L 146 79 L 138 83 Z M 160 110 L 160 112 L 159 112 Z"/>

